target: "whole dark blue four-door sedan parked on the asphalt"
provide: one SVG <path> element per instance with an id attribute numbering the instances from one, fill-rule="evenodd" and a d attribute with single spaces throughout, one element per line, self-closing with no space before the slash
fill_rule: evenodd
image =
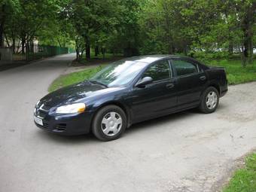
<path id="1" fill-rule="evenodd" d="M 48 132 L 92 131 L 109 141 L 143 120 L 189 108 L 212 113 L 225 93 L 223 68 L 210 68 L 185 56 L 136 56 L 44 96 L 35 105 L 34 120 Z"/>

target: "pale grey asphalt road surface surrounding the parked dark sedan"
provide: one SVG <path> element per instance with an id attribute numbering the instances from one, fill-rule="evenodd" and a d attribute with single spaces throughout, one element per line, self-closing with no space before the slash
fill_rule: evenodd
<path id="1" fill-rule="evenodd" d="M 112 142 L 44 133 L 35 102 L 72 59 L 0 72 L 0 191 L 215 191 L 256 147 L 256 83 L 230 87 L 214 114 L 139 123 Z"/>

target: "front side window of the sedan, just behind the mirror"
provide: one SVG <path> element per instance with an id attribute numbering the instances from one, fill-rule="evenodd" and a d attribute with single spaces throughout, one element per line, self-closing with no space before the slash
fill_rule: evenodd
<path id="1" fill-rule="evenodd" d="M 154 63 L 150 66 L 147 71 L 144 73 L 142 78 L 151 77 L 153 81 L 161 81 L 171 77 L 169 62 L 168 60 L 163 60 L 160 62 Z"/>

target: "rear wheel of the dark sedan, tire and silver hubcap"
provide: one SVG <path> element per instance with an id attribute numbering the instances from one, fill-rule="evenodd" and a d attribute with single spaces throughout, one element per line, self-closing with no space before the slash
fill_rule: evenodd
<path id="1" fill-rule="evenodd" d="M 199 109 L 205 114 L 212 113 L 218 107 L 220 96 L 215 87 L 208 87 L 201 97 Z"/>

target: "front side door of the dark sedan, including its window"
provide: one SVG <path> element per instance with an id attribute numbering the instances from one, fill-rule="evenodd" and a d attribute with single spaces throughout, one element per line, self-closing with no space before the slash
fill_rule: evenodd
<path id="1" fill-rule="evenodd" d="M 133 87 L 132 111 L 133 121 L 141 121 L 175 109 L 175 82 L 169 60 L 161 60 L 148 66 L 141 78 L 151 77 L 153 82 L 143 88 Z"/>

